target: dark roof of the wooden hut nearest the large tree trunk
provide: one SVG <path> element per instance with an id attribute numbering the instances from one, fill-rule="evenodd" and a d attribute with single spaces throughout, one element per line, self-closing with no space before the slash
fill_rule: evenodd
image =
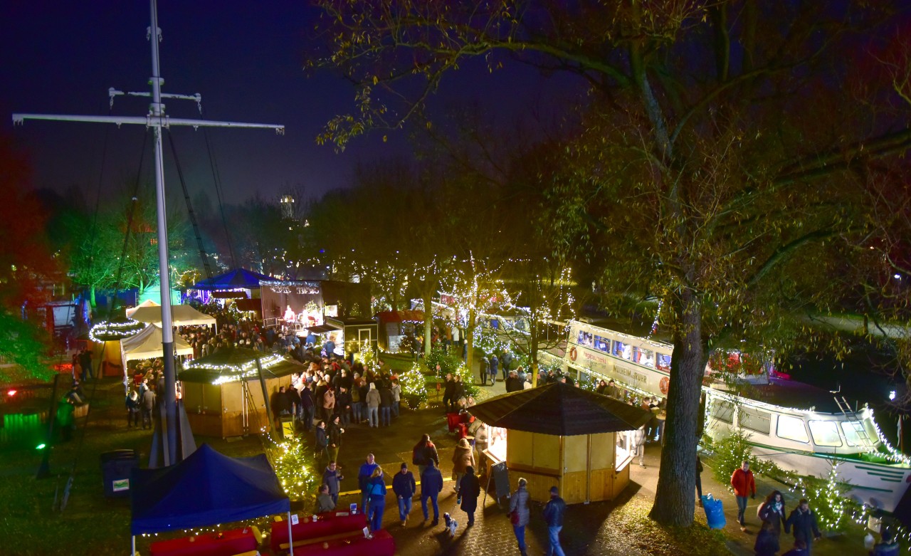
<path id="1" fill-rule="evenodd" d="M 571 437 L 634 430 L 651 413 L 562 382 L 496 396 L 469 409 L 492 427 Z"/>

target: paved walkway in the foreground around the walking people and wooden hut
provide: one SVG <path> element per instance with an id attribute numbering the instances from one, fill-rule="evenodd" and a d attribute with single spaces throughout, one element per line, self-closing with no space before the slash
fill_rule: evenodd
<path id="1" fill-rule="evenodd" d="M 479 396 L 496 396 L 505 393 L 502 381 L 496 386 L 480 386 L 484 393 Z M 435 396 L 430 398 L 435 402 Z M 381 465 L 387 475 L 387 483 L 391 483 L 394 473 L 400 470 L 402 462 L 416 474 L 416 466 L 411 465 L 411 448 L 421 438 L 422 434 L 429 434 L 433 439 L 440 454 L 440 467 L 443 476 L 448 479 L 452 473 L 452 455 L 455 449 L 455 438 L 447 434 L 445 414 L 441 407 L 430 407 L 420 411 L 405 409 L 401 417 L 394 419 L 392 427 L 370 428 L 366 425 L 351 426 L 346 429 L 344 444 L 340 451 L 339 459 L 343 466 L 343 491 L 357 489 L 357 469 L 363 463 L 368 451 L 374 453 L 377 463 Z M 650 507 L 655 496 L 658 482 L 660 464 L 660 446 L 652 444 L 646 449 L 646 468 L 633 466 L 631 468 L 631 484 L 620 499 L 613 502 L 598 502 L 588 505 L 578 504 L 570 506 L 567 513 L 566 525 L 561 534 L 563 547 L 567 554 L 605 554 L 605 555 L 648 555 L 648 541 L 641 539 L 625 538 L 627 535 L 617 529 L 617 525 L 610 520 L 611 514 L 624 504 L 640 504 Z M 482 487 L 484 486 L 482 479 Z M 755 500 L 750 500 L 747 508 L 748 531 L 743 533 L 736 522 L 736 503 L 732 495 L 722 484 L 711 477 L 711 469 L 706 467 L 702 473 L 703 493 L 711 492 L 724 503 L 727 527 L 724 530 L 728 538 L 729 553 L 737 555 L 752 555 L 752 545 L 758 526 L 756 508 L 764 495 L 773 489 L 783 490 L 786 497 L 787 510 L 793 509 L 794 496 L 787 492 L 783 485 L 773 484 L 772 481 L 759 479 L 759 494 Z M 420 487 L 418 487 L 420 491 Z M 513 530 L 506 517 L 506 510 L 498 508 L 496 500 L 487 497 L 483 505 L 484 493 L 478 500 L 476 524 L 472 529 L 464 527 L 465 513 L 455 504 L 455 491 L 453 482 L 446 480 L 445 487 L 439 499 L 441 512 L 440 525 L 430 527 L 430 521 L 423 521 L 420 500 L 415 499 L 413 510 L 407 525 L 403 528 L 398 520 L 398 506 L 392 496 L 392 489 L 386 500 L 384 514 L 384 527 L 394 536 L 399 554 L 408 556 L 429 556 L 435 554 L 481 554 L 502 556 L 518 553 L 517 542 Z M 695 494 L 694 494 L 695 498 Z M 359 494 L 343 496 L 340 499 L 342 507 L 352 502 L 360 503 Z M 705 515 L 697 508 L 697 521 L 695 527 L 704 527 Z M 450 539 L 443 526 L 442 514 L 449 512 L 463 524 L 456 532 L 455 538 Z M 432 510 L 431 510 L 432 513 Z M 542 554 L 547 549 L 547 529 L 544 521 L 539 518 L 540 507 L 532 508 L 532 522 L 527 528 L 527 546 L 529 554 Z M 432 516 L 431 516 L 432 518 Z M 849 554 L 864 554 L 864 531 L 854 527 L 851 532 L 842 537 L 825 539 L 814 546 L 814 556 L 845 556 Z M 789 536 L 782 535 L 783 551 L 792 546 Z"/>

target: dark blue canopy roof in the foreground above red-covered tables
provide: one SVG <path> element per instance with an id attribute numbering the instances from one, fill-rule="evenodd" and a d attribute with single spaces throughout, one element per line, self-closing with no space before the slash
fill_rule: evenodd
<path id="1" fill-rule="evenodd" d="M 134 535 L 250 520 L 291 509 L 265 454 L 229 458 L 203 444 L 175 466 L 134 468 Z"/>

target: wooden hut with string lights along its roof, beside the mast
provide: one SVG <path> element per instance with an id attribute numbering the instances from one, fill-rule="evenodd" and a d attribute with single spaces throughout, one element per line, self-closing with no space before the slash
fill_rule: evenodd
<path id="1" fill-rule="evenodd" d="M 281 355 L 234 347 L 221 348 L 217 353 L 190 361 L 178 373 L 194 434 L 240 437 L 270 427 L 270 400 L 262 395 L 257 357 L 270 397 L 280 386 L 291 386 L 292 373 L 306 370 L 300 363 Z"/>

